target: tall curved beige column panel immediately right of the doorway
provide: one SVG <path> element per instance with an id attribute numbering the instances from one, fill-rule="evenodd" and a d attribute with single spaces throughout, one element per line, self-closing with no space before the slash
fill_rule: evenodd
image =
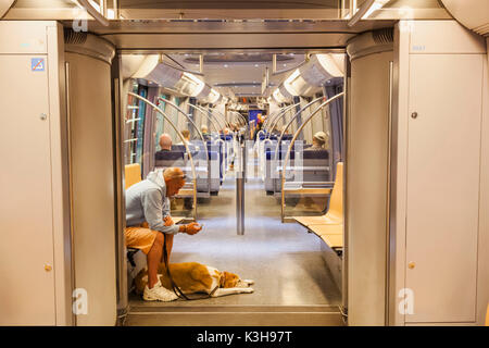
<path id="1" fill-rule="evenodd" d="M 349 325 L 384 325 L 389 62 L 392 51 L 351 62 L 347 121 Z"/>

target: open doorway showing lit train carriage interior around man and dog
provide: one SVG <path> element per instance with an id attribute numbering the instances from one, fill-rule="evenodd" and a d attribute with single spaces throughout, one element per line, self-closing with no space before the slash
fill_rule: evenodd
<path id="1" fill-rule="evenodd" d="M 203 229 L 175 235 L 171 264 L 254 281 L 251 294 L 145 301 L 146 256 L 120 240 L 125 324 L 344 324 L 347 64 L 341 50 L 120 55 L 121 207 L 131 185 L 180 167 L 172 217 Z"/>

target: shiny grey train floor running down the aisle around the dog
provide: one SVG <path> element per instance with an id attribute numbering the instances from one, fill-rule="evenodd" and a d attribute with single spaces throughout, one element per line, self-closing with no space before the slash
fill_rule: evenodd
<path id="1" fill-rule="evenodd" d="M 324 261 L 321 240 L 296 223 L 280 222 L 280 206 L 256 178 L 246 184 L 244 235 L 236 233 L 235 178 L 228 173 L 218 196 L 198 207 L 203 229 L 175 237 L 172 262 L 196 261 L 255 281 L 253 294 L 146 306 L 338 304 L 341 294 Z M 140 298 L 131 296 L 140 303 Z"/>

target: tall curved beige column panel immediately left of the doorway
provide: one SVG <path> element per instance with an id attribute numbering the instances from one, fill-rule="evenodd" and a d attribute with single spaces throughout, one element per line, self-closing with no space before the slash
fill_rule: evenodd
<path id="1" fill-rule="evenodd" d="M 70 63 L 75 286 L 87 294 L 77 325 L 116 321 L 115 204 L 110 65 L 78 53 Z"/>

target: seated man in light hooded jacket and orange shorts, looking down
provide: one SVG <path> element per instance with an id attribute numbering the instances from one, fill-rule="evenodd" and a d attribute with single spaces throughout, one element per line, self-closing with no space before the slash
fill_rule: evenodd
<path id="1" fill-rule="evenodd" d="M 140 249 L 147 254 L 148 285 L 142 298 L 148 301 L 173 301 L 178 298 L 164 288 L 158 277 L 158 265 L 163 257 L 163 234 L 166 235 L 170 259 L 175 234 L 183 232 L 195 235 L 201 229 L 196 222 L 175 225 L 170 215 L 168 197 L 177 195 L 184 185 L 184 172 L 178 167 L 168 167 L 149 173 L 145 181 L 126 190 L 126 246 Z"/>

